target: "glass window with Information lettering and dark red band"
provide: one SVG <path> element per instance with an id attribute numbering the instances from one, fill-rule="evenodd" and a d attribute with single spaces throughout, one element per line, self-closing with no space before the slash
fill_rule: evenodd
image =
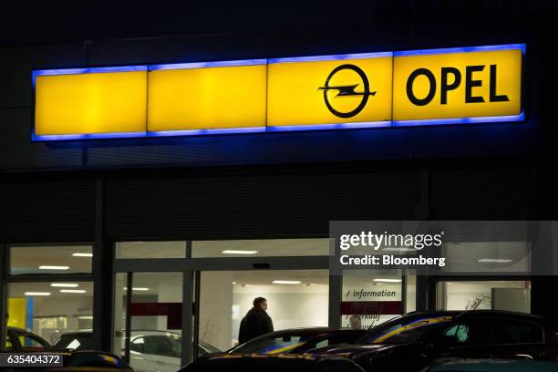
<path id="1" fill-rule="evenodd" d="M 367 329 L 402 315 L 402 277 L 398 271 L 344 271 L 341 326 Z"/>

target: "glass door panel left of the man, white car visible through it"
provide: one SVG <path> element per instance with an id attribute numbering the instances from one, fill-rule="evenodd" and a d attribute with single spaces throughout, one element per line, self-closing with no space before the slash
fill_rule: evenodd
<path id="1" fill-rule="evenodd" d="M 138 372 L 181 367 L 182 273 L 119 273 L 114 352 Z"/>

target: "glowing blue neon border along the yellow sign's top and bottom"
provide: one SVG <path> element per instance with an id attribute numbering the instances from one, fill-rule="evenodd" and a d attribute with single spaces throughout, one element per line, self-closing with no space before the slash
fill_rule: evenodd
<path id="1" fill-rule="evenodd" d="M 212 62 L 190 62 L 176 64 L 159 65 L 139 65 L 122 67 L 84 67 L 84 68 L 56 68 L 40 69 L 32 72 L 33 89 L 36 86 L 37 76 L 57 76 L 57 75 L 82 75 L 92 73 L 107 72 L 130 72 L 130 71 L 157 71 L 169 69 L 203 68 L 203 67 L 234 67 L 234 66 L 256 66 L 269 65 L 275 63 L 289 62 L 317 62 L 335 61 L 344 59 L 362 59 L 377 57 L 406 57 L 406 56 L 427 56 L 450 53 L 470 53 L 481 51 L 497 51 L 520 49 L 525 55 L 525 44 L 506 44 L 499 46 L 484 47 L 450 47 L 437 49 L 418 49 L 396 52 L 377 52 L 377 53 L 354 53 L 342 55 L 325 55 L 310 57 L 280 57 L 280 58 L 256 58 L 229 61 Z M 265 127 L 246 127 L 246 128 L 222 128 L 222 129 L 181 129 L 163 131 L 139 131 L 139 132 L 116 132 L 116 133 L 90 133 L 90 134 L 62 134 L 62 135 L 36 135 L 35 123 L 31 133 L 32 141 L 56 141 L 56 140 L 108 140 L 108 139 L 129 139 L 129 138 L 152 138 L 152 137 L 179 137 L 179 136 L 201 136 L 214 134 L 242 134 L 242 133 L 267 133 L 285 131 L 306 131 L 306 130 L 326 130 L 326 129 L 370 129 L 370 128 L 402 128 L 418 126 L 436 125 L 455 125 L 455 124 L 482 124 L 494 122 L 513 122 L 525 119 L 522 111 L 518 115 L 500 117 L 478 117 L 478 118 L 449 118 L 449 119 L 418 119 L 418 120 L 385 120 L 375 122 L 354 122 L 354 123 L 330 123 L 330 124 L 308 124 L 308 125 L 289 125 L 289 126 L 265 126 Z"/>

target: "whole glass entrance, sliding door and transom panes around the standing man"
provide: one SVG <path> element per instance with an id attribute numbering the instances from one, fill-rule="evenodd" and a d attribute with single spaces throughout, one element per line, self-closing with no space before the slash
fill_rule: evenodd
<path id="1" fill-rule="evenodd" d="M 327 238 L 128 242 L 115 249 L 113 351 L 136 371 L 176 371 L 193 357 L 231 348 L 256 297 L 267 299 L 276 330 L 327 326 L 338 317 L 331 315 Z"/>

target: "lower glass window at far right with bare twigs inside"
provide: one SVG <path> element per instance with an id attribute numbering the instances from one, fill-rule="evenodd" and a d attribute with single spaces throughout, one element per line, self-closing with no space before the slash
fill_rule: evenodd
<path id="1" fill-rule="evenodd" d="M 531 313 L 530 281 L 444 281 L 440 310 L 508 310 Z"/>

